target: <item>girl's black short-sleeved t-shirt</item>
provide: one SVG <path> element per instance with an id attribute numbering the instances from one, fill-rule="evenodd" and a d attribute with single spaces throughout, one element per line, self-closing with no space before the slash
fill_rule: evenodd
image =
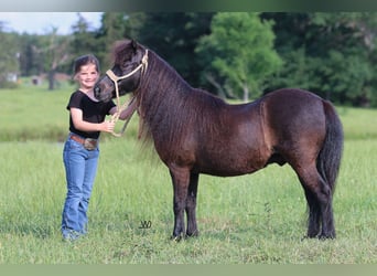
<path id="1" fill-rule="evenodd" d="M 71 95 L 67 109 L 71 107 L 78 108 L 83 110 L 83 120 L 88 123 L 103 123 L 105 120 L 106 115 L 109 115 L 109 112 L 116 104 L 110 100 L 107 103 L 104 102 L 95 102 L 90 99 L 84 92 L 76 91 Z M 79 135 L 84 138 L 93 138 L 98 139 L 100 131 L 82 131 L 75 128 L 73 124 L 72 116 L 69 115 L 69 131 L 76 135 Z"/>

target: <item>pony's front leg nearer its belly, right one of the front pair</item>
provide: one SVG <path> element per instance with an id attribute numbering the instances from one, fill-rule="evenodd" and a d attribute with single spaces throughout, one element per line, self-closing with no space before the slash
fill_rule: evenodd
<path id="1" fill-rule="evenodd" d="M 186 235 L 187 236 L 198 235 L 197 225 L 196 225 L 197 183 L 198 183 L 198 174 L 192 173 L 190 177 L 190 184 L 188 184 L 187 200 L 186 200 L 186 215 L 187 215 Z"/>

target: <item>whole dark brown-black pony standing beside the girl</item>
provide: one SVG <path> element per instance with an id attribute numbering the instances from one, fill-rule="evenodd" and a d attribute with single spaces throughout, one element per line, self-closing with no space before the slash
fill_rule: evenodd
<path id="1" fill-rule="evenodd" d="M 289 163 L 298 174 L 309 205 L 308 237 L 335 237 L 332 200 L 343 129 L 331 103 L 310 92 L 284 88 L 254 103 L 229 105 L 193 88 L 154 52 L 128 40 L 116 47 L 114 67 L 95 87 L 100 100 L 118 92 L 132 92 L 140 131 L 153 140 L 169 168 L 173 237 L 198 233 L 200 173 L 240 176 L 273 162 Z"/>

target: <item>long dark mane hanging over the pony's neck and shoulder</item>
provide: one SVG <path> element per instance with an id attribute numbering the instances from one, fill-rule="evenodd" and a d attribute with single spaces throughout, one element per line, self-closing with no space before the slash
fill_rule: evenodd
<path id="1" fill-rule="evenodd" d="M 165 141 L 172 147 L 187 135 L 186 125 L 196 126 L 196 130 L 216 137 L 220 128 L 215 125 L 222 123 L 218 110 L 227 106 L 222 98 L 193 88 L 170 64 L 150 50 L 148 70 L 137 93 L 141 94 L 141 137 L 150 140 L 152 132 L 154 136 L 161 134 L 169 137 Z"/>

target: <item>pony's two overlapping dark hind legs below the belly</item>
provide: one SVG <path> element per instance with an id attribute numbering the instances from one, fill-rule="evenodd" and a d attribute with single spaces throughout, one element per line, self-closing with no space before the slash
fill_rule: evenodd
<path id="1" fill-rule="evenodd" d="M 308 237 L 334 238 L 332 191 L 315 166 L 295 169 L 309 205 Z M 320 232 L 320 224 L 322 226 Z"/>

